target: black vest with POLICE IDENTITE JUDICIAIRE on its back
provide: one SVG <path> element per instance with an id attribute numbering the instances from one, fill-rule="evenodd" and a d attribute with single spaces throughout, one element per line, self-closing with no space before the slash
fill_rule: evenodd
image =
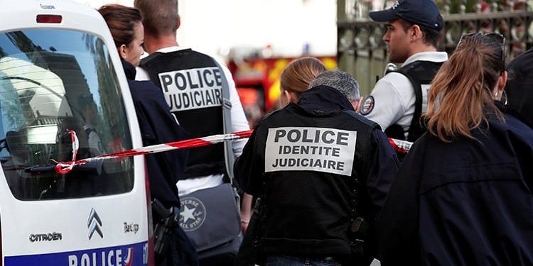
<path id="1" fill-rule="evenodd" d="M 375 218 L 365 184 L 377 124 L 354 111 L 312 116 L 296 104 L 259 123 L 265 170 L 254 245 L 266 254 L 360 257 L 366 244 L 357 239 L 368 231 L 354 228 Z"/>

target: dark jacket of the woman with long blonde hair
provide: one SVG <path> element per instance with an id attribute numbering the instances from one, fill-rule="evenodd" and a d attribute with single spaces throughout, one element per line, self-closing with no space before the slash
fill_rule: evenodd
<path id="1" fill-rule="evenodd" d="M 533 265 L 533 130 L 505 115 L 412 146 L 378 222 L 382 265 Z"/>

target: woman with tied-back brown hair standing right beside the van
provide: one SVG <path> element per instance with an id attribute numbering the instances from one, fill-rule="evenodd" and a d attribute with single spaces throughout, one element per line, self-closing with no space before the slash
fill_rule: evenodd
<path id="1" fill-rule="evenodd" d="M 171 143 L 187 138 L 176 123 L 163 93 L 153 82 L 136 81 L 135 66 L 144 50 L 141 47 L 144 29 L 138 9 L 109 4 L 99 13 L 107 23 L 128 80 L 131 98 L 144 146 Z M 151 209 L 154 223 L 154 262 L 157 266 L 198 265 L 198 256 L 179 218 L 180 199 L 176 182 L 185 169 L 188 150 L 169 150 L 144 156 L 150 182 Z"/>

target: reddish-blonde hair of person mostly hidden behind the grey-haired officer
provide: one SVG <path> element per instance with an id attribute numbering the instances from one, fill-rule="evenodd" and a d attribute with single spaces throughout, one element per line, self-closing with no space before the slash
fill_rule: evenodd
<path id="1" fill-rule="evenodd" d="M 325 65 L 315 57 L 298 58 L 281 72 L 279 87 L 282 91 L 293 92 L 299 97 L 308 89 L 313 79 L 325 70 Z"/>

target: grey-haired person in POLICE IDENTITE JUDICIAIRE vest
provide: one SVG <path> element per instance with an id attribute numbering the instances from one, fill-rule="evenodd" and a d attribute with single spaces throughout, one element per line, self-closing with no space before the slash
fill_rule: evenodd
<path id="1" fill-rule="evenodd" d="M 310 88 L 264 116 L 235 163 L 244 191 L 260 197 L 253 245 L 267 265 L 369 265 L 399 160 L 377 123 L 355 112 L 350 74 L 323 72 Z"/>

